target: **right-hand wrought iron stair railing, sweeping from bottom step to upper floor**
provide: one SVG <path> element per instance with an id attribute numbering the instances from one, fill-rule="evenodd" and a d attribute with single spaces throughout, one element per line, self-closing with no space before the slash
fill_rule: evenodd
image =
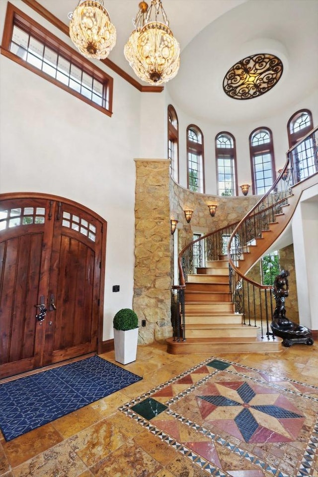
<path id="1" fill-rule="evenodd" d="M 243 323 L 261 327 L 261 336 L 274 337 L 270 331 L 273 315 L 272 286 L 261 285 L 241 272 L 238 264 L 244 251 L 256 238 L 262 237 L 275 222 L 282 206 L 288 204 L 292 187 L 318 172 L 318 128 L 313 129 L 286 153 L 286 163 L 272 187 L 246 214 L 233 231 L 228 245 L 230 289 L 237 313 Z M 259 258 L 259 257 L 258 257 Z M 257 324 L 256 324 L 257 323 Z"/>

